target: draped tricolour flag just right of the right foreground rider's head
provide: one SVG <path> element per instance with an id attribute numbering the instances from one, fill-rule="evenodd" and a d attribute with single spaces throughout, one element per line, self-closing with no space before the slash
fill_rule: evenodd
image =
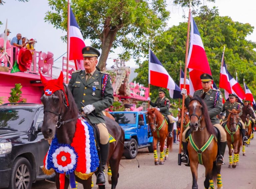
<path id="1" fill-rule="evenodd" d="M 233 93 L 238 97 L 238 100 L 243 103 L 242 100 L 245 98 L 245 92 L 239 83 L 228 72 L 224 58 L 223 65 L 220 70 L 220 88 L 224 89 L 226 99 L 228 99 L 229 94 Z"/>

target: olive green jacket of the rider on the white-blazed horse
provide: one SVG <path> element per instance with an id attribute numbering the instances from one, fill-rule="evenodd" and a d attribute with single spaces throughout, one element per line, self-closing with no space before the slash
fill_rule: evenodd
<path id="1" fill-rule="evenodd" d="M 195 96 L 200 97 L 200 96 L 202 96 L 202 94 L 203 94 L 203 89 L 197 90 L 194 93 L 194 97 Z M 217 101 L 215 102 L 216 95 L 217 95 Z M 187 97 L 185 99 L 185 105 L 187 108 L 188 108 L 189 102 L 190 102 L 190 98 Z M 210 116 L 212 124 L 213 125 L 220 124 L 220 120 L 217 118 L 217 115 L 222 111 L 222 106 L 223 106 L 221 91 L 216 90 L 216 89 L 210 89 L 204 97 L 204 102 L 207 105 L 208 114 Z M 214 105 L 214 103 L 216 103 L 216 104 Z"/>

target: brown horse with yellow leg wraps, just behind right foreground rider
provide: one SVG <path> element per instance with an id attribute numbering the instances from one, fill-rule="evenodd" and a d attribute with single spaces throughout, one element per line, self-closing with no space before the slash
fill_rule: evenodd
<path id="1" fill-rule="evenodd" d="M 239 161 L 239 152 L 242 145 L 242 135 L 238 126 L 239 122 L 239 112 L 240 110 L 233 109 L 229 111 L 227 118 L 227 124 L 225 125 L 225 131 L 227 133 L 227 142 L 228 142 L 228 153 L 229 153 L 229 168 L 236 168 Z M 234 159 L 232 160 L 232 147 L 234 149 Z"/>

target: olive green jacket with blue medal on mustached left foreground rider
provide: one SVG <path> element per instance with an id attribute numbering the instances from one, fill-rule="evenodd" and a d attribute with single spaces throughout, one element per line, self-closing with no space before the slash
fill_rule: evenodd
<path id="1" fill-rule="evenodd" d="M 83 107 L 81 102 L 83 102 L 85 106 L 88 104 L 94 106 L 95 110 L 92 111 L 92 114 L 95 115 L 97 119 L 91 114 L 87 114 L 87 116 L 92 123 L 96 124 L 105 123 L 102 110 L 110 107 L 114 101 L 113 87 L 109 75 L 104 94 L 102 95 L 102 77 L 106 74 L 108 73 L 95 70 L 94 74 L 86 82 L 85 70 L 77 70 L 73 72 L 71 80 L 68 83 L 68 88 L 79 110 Z M 93 95 L 93 89 L 95 89 L 95 95 Z"/>

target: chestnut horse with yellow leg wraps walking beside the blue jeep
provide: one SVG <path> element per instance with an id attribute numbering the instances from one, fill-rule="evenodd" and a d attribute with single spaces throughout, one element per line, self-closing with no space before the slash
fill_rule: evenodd
<path id="1" fill-rule="evenodd" d="M 153 133 L 153 149 L 154 149 L 154 158 L 155 158 L 155 165 L 163 165 L 164 164 L 164 158 L 165 160 L 168 160 L 168 154 L 169 154 L 169 147 L 170 151 L 172 150 L 172 142 L 173 138 L 167 137 L 168 134 L 168 124 L 164 118 L 164 116 L 156 109 L 151 108 L 147 112 L 148 114 L 148 122 L 150 125 L 151 132 Z M 167 143 L 166 143 L 166 152 L 164 154 L 164 145 L 165 145 L 165 139 L 167 137 Z M 158 161 L 157 156 L 157 142 L 160 142 L 160 161 Z"/>

